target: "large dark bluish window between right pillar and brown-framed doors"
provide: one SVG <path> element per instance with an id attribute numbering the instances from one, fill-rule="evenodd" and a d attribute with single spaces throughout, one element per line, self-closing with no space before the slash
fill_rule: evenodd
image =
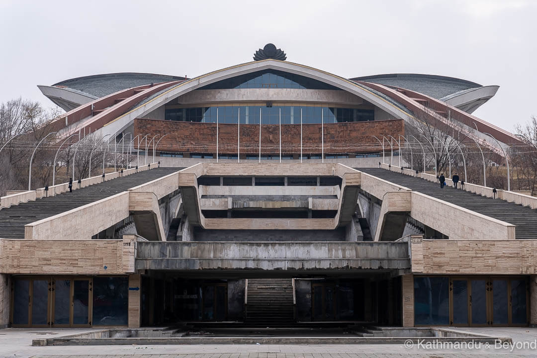
<path id="1" fill-rule="evenodd" d="M 415 277 L 414 315 L 416 325 L 449 324 L 447 277 Z"/>

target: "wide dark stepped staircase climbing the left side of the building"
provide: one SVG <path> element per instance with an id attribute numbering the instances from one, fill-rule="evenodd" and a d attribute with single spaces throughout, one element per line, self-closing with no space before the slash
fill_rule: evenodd
<path id="1" fill-rule="evenodd" d="M 72 193 L 62 193 L 2 209 L 0 210 L 0 238 L 24 239 L 24 225 L 26 224 L 108 198 L 108 196 L 124 192 L 180 169 L 182 168 L 163 167 L 146 170 L 76 189 Z M 76 187 L 78 184 L 74 182 L 73 185 Z"/>

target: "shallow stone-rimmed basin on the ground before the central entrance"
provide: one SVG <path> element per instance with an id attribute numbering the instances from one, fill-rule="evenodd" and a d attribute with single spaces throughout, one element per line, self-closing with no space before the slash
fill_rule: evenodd
<path id="1" fill-rule="evenodd" d="M 34 339 L 33 346 L 91 345 L 326 345 L 326 344 L 426 344 L 459 342 L 495 344 L 512 342 L 449 328 L 435 327 L 358 327 L 346 328 L 108 328 L 63 337 Z"/>

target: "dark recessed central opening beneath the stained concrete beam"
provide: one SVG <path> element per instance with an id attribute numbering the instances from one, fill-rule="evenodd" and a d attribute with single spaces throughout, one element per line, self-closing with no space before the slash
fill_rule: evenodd
<path id="1" fill-rule="evenodd" d="M 401 325 L 401 278 L 386 273 L 266 277 L 148 272 L 142 326 L 348 322 Z"/>

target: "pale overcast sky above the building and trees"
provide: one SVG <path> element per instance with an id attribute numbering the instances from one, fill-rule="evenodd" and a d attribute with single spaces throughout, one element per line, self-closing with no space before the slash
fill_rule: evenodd
<path id="1" fill-rule="evenodd" d="M 537 0 L 0 0 L 0 101 L 110 72 L 188 77 L 287 60 L 346 78 L 418 73 L 499 85 L 474 114 L 507 130 L 537 115 Z"/>

